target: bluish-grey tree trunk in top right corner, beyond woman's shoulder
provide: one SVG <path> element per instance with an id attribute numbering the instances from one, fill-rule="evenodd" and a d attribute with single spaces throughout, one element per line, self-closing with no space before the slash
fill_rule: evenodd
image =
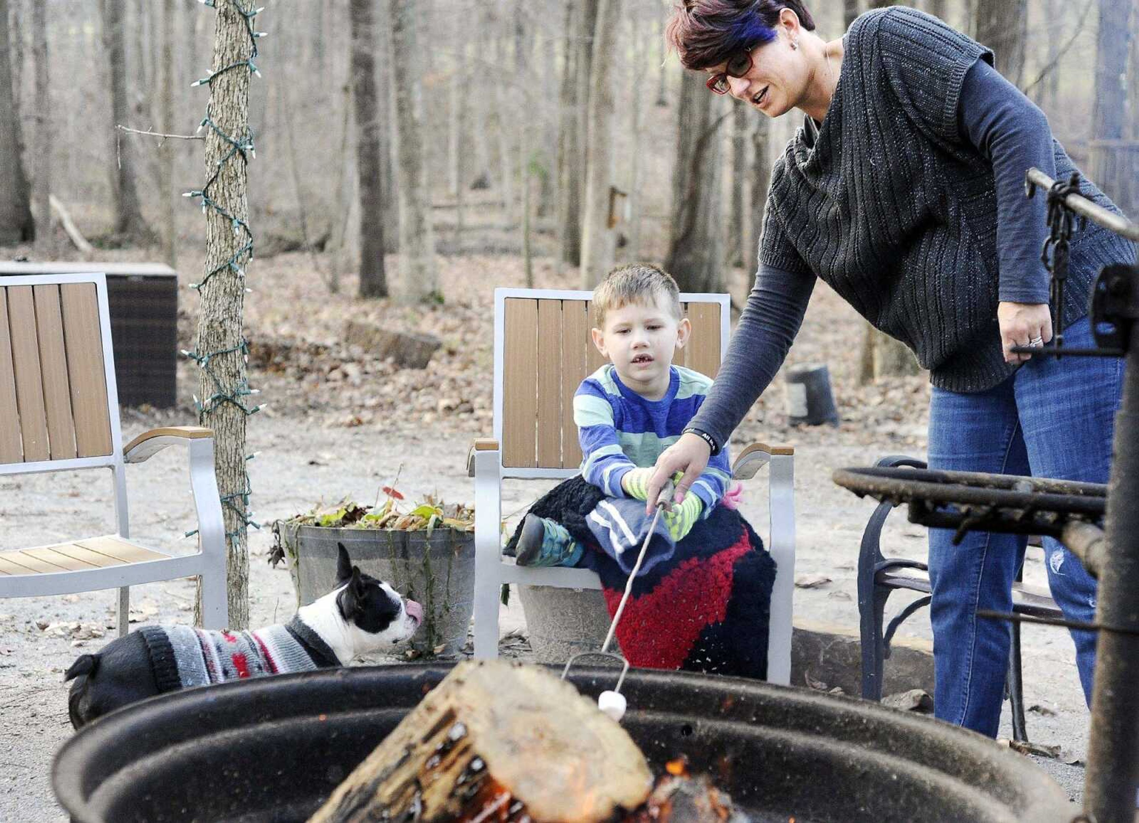
<path id="1" fill-rule="evenodd" d="M 1099 0 L 1096 96 L 1091 115 L 1089 164 L 1092 181 L 1126 214 L 1133 214 L 1137 205 L 1133 192 L 1134 151 L 1123 142 L 1128 105 L 1128 57 L 1131 50 L 1131 7 L 1129 0 Z"/>

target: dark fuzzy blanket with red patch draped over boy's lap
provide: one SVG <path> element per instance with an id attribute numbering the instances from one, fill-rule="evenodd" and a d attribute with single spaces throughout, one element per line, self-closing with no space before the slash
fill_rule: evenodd
<path id="1" fill-rule="evenodd" d="M 579 475 L 530 511 L 563 524 L 589 548 L 582 566 L 601 578 L 612 617 L 628 581 L 596 544 L 585 517 L 604 495 Z M 510 538 L 518 541 L 522 526 Z M 677 544 L 672 558 L 639 575 L 617 626 L 630 665 L 767 677 L 768 618 L 776 562 L 738 511 L 719 505 Z"/>

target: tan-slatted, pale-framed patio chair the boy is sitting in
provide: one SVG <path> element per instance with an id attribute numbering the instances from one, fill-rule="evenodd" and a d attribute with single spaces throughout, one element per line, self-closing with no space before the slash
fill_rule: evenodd
<path id="1" fill-rule="evenodd" d="M 590 291 L 494 290 L 494 438 L 475 441 L 475 657 L 498 655 L 505 583 L 600 589 L 588 569 L 516 566 L 501 551 L 502 480 L 565 479 L 579 474 L 573 422 L 577 385 L 605 361 L 590 339 Z M 681 294 L 693 336 L 677 359 L 715 376 L 728 345 L 728 295 Z M 737 478 L 770 466 L 768 550 L 778 565 L 771 594 L 768 680 L 790 681 L 790 608 L 795 569 L 794 450 L 753 444 L 736 459 Z"/>

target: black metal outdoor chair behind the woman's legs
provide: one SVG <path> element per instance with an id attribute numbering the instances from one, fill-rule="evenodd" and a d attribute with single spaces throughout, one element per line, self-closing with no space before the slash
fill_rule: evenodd
<path id="1" fill-rule="evenodd" d="M 875 466 L 926 468 L 924 461 L 902 455 L 882 458 Z M 890 657 L 890 641 L 894 632 L 910 615 L 929 604 L 929 567 L 919 560 L 887 558 L 882 553 L 882 528 L 895 505 L 888 500 L 878 503 L 862 533 L 859 551 L 858 612 L 862 644 L 862 697 L 867 700 L 882 700 L 883 664 Z M 1013 584 L 1014 612 L 1033 617 L 1064 617 L 1047 591 L 1026 586 L 1021 578 L 1022 571 L 1017 571 L 1016 583 Z M 899 611 L 884 631 L 886 601 L 899 589 L 923 592 L 925 596 Z M 1013 739 L 1027 741 L 1021 669 L 1021 624 L 1011 624 L 1011 636 L 1005 691 L 1013 709 Z"/>

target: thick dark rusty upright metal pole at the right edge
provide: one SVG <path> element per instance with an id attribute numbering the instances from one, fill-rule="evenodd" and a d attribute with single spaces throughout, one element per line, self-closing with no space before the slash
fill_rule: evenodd
<path id="1" fill-rule="evenodd" d="M 1107 569 L 1096 623 L 1139 626 L 1139 340 L 1129 347 L 1107 486 Z M 1101 628 L 1096 645 L 1083 805 L 1096 823 L 1132 823 L 1139 787 L 1139 635 Z"/>

